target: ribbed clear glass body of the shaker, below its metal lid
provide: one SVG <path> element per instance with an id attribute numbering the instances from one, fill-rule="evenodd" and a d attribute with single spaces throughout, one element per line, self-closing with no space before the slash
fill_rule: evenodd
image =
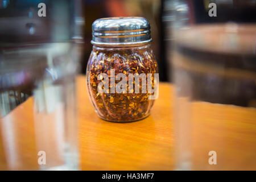
<path id="1" fill-rule="evenodd" d="M 158 65 L 149 43 L 136 47 L 93 46 L 86 70 L 90 101 L 98 116 L 107 121 L 133 122 L 146 118 L 154 104 L 154 99 L 148 96 L 155 94 L 148 90 L 158 89 L 156 76 Z"/>

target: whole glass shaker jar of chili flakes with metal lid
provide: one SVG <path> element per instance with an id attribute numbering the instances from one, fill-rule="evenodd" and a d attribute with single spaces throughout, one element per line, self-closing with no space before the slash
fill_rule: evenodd
<path id="1" fill-rule="evenodd" d="M 141 17 L 101 18 L 92 34 L 86 81 L 96 113 L 112 122 L 146 118 L 158 97 L 150 24 Z"/>

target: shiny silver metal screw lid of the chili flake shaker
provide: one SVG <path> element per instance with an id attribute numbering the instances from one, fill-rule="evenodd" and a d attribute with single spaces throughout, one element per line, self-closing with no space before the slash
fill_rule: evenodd
<path id="1" fill-rule="evenodd" d="M 92 44 L 134 46 L 151 42 L 150 23 L 142 17 L 100 18 L 92 24 Z"/>

